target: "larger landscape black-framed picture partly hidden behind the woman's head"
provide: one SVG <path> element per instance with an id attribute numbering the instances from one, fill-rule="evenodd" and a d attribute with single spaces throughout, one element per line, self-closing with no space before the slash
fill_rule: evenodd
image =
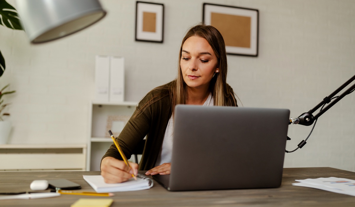
<path id="1" fill-rule="evenodd" d="M 222 34 L 227 54 L 258 56 L 257 9 L 204 3 L 202 18 Z"/>

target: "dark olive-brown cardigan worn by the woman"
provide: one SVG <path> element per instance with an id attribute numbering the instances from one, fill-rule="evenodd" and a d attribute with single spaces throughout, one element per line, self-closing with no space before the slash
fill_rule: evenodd
<path id="1" fill-rule="evenodd" d="M 172 92 L 169 89 L 171 84 L 174 84 L 174 81 L 150 91 L 140 101 L 132 117 L 116 138 L 125 156 L 127 159 L 130 159 L 138 143 L 147 136 L 138 170 L 150 170 L 155 166 L 155 162 L 157 161 L 160 148 L 162 147 L 165 129 L 172 114 L 170 96 Z M 233 97 L 229 98 L 234 98 L 232 89 L 231 93 Z M 160 97 L 160 99 L 158 98 L 158 100 L 156 100 L 157 96 Z M 135 117 L 139 109 L 152 99 L 156 101 L 149 105 L 140 115 Z M 122 160 L 114 144 L 110 146 L 102 159 L 105 157 L 114 157 Z"/>

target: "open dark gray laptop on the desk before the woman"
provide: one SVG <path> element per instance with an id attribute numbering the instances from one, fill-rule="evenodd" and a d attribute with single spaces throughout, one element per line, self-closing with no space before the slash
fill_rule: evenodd
<path id="1" fill-rule="evenodd" d="M 177 105 L 170 191 L 279 187 L 288 109 Z"/>

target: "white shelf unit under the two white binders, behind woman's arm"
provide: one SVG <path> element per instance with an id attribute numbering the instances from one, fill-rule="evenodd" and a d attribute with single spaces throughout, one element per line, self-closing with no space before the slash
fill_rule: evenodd
<path id="1" fill-rule="evenodd" d="M 92 102 L 90 108 L 89 138 L 87 143 L 86 170 L 99 171 L 102 156 L 113 143 L 105 137 L 109 115 L 131 116 L 138 102 Z M 132 161 L 132 160 L 130 160 Z M 133 159 L 134 161 L 134 159 Z"/>

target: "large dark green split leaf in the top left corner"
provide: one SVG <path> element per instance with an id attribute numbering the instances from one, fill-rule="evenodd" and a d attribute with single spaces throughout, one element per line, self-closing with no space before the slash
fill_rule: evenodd
<path id="1" fill-rule="evenodd" d="M 23 30 L 16 9 L 5 0 L 0 0 L 0 24 L 10 29 Z"/>

